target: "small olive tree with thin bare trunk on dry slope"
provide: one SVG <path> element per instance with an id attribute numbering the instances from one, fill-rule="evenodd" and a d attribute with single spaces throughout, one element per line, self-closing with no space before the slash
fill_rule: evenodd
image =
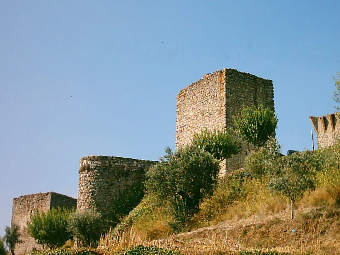
<path id="1" fill-rule="evenodd" d="M 310 151 L 294 153 L 277 159 L 269 180 L 269 188 L 290 200 L 291 219 L 294 219 L 294 202 L 304 191 L 315 189 L 315 161 Z"/>

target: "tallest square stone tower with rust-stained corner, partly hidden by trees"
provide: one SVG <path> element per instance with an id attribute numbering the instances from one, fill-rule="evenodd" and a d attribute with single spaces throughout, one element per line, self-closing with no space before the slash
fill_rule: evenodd
<path id="1" fill-rule="evenodd" d="M 194 132 L 202 129 L 234 127 L 233 116 L 243 104 L 262 104 L 274 111 L 273 81 L 227 69 L 207 74 L 177 95 L 176 147 L 190 143 Z M 242 143 L 238 155 L 221 163 L 225 171 L 243 167 L 249 148 Z"/>

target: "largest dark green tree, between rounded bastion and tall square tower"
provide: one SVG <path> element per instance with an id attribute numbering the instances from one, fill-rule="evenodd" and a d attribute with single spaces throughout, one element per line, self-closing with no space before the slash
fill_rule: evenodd
<path id="1" fill-rule="evenodd" d="M 219 163 L 203 149 L 189 145 L 167 152 L 166 160 L 153 165 L 146 174 L 146 188 L 160 201 L 170 203 L 169 212 L 180 227 L 199 210 L 202 199 L 212 193 Z"/>

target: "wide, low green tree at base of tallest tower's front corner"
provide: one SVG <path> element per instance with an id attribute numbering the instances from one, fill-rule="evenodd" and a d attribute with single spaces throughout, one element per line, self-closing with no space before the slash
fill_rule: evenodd
<path id="1" fill-rule="evenodd" d="M 209 152 L 214 158 L 223 160 L 239 153 L 240 143 L 227 129 L 208 130 L 194 133 L 191 139 L 193 146 Z"/>

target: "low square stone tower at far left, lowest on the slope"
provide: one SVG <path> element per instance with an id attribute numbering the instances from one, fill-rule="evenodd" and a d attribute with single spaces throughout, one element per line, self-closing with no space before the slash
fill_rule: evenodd
<path id="1" fill-rule="evenodd" d="M 19 226 L 20 238 L 24 241 L 24 243 L 16 244 L 14 253 L 29 253 L 33 248 L 37 250 L 43 249 L 43 246 L 37 244 L 27 231 L 27 222 L 30 221 L 30 215 L 36 209 L 46 212 L 52 207 L 75 208 L 76 205 L 77 199 L 55 192 L 24 195 L 14 198 L 11 224 Z"/>

